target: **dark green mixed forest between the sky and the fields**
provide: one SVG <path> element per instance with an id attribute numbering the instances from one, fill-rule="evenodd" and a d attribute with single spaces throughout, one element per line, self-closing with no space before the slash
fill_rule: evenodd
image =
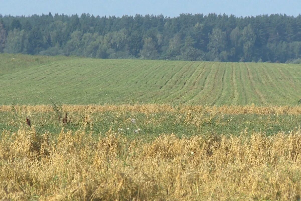
<path id="1" fill-rule="evenodd" d="M 301 15 L 2 16 L 0 52 L 206 61 L 296 62 Z"/>

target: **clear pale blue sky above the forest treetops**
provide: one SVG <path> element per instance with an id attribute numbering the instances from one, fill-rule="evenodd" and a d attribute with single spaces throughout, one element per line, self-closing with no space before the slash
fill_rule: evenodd
<path id="1" fill-rule="evenodd" d="M 0 0 L 2 15 L 48 14 L 93 14 L 113 16 L 154 14 L 169 17 L 181 13 L 234 14 L 235 16 L 256 16 L 260 14 L 301 13 L 301 0 Z"/>

